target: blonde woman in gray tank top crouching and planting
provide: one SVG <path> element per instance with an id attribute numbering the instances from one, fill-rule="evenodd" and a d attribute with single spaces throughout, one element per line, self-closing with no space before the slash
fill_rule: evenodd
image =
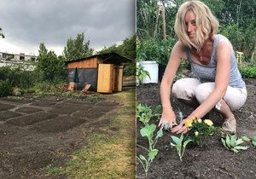
<path id="1" fill-rule="evenodd" d="M 170 101 L 172 93 L 188 103 L 195 100 L 199 106 L 187 118 L 202 118 L 215 107 L 226 118 L 223 130 L 236 133 L 236 118 L 232 111 L 245 103 L 247 90 L 236 64 L 230 41 L 218 35 L 218 20 L 200 1 L 183 3 L 177 11 L 174 26 L 178 41 L 172 49 L 170 60 L 160 84 L 163 112 L 160 126 L 176 123 Z M 197 78 L 183 78 L 172 85 L 177 67 L 183 59 L 190 62 Z M 171 129 L 186 133 L 184 121 Z"/>

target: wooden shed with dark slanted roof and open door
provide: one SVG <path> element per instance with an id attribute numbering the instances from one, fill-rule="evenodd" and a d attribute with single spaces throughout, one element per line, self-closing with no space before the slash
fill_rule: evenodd
<path id="1" fill-rule="evenodd" d="M 123 65 L 130 59 L 116 53 L 92 55 L 83 59 L 67 61 L 68 82 L 73 82 L 76 68 L 79 72 L 78 90 L 91 84 L 90 90 L 100 93 L 122 91 Z"/>

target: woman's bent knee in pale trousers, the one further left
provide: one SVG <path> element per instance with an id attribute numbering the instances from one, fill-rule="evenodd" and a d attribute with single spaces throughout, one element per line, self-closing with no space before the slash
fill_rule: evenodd
<path id="1" fill-rule="evenodd" d="M 195 89 L 201 84 L 195 78 L 182 78 L 172 85 L 172 94 L 178 99 L 191 100 L 195 97 Z"/>

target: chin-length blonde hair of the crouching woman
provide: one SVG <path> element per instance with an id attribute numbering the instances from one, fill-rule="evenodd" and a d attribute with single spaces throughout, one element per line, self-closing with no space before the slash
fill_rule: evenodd
<path id="1" fill-rule="evenodd" d="M 187 33 L 188 27 L 185 22 L 185 14 L 189 11 L 195 14 L 195 42 L 189 40 Z M 183 3 L 177 10 L 174 30 L 178 40 L 183 43 L 184 46 L 190 49 L 194 47 L 199 51 L 207 38 L 210 38 L 218 32 L 218 20 L 206 4 L 200 1 L 188 1 Z"/>

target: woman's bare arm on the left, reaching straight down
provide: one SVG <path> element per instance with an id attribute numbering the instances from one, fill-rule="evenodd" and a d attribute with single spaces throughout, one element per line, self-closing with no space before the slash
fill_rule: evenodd
<path id="1" fill-rule="evenodd" d="M 166 71 L 160 84 L 160 98 L 163 107 L 159 126 L 163 126 L 164 122 L 170 124 L 176 123 L 175 113 L 172 110 L 170 101 L 171 86 L 173 78 L 177 72 L 177 68 L 180 65 L 182 59 L 186 58 L 185 51 L 180 42 L 177 42 L 172 48 L 170 60 L 166 66 Z"/>

